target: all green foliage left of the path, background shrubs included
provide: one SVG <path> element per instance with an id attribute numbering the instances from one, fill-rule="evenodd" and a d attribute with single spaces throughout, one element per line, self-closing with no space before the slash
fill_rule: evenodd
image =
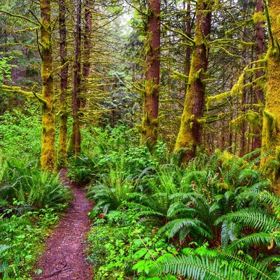
<path id="1" fill-rule="evenodd" d="M 38 116 L 1 116 L 0 278 L 30 279 L 43 241 L 59 221 L 71 190 L 39 167 Z"/>

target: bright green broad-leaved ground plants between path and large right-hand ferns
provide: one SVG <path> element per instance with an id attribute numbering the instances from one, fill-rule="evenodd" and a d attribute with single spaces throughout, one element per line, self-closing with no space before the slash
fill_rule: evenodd
<path id="1" fill-rule="evenodd" d="M 150 271 L 153 260 L 177 253 L 172 244 L 156 235 L 155 228 L 135 220 L 134 214 L 130 210 L 111 211 L 95 221 L 87 253 L 94 279 L 144 280 L 140 274 Z"/>

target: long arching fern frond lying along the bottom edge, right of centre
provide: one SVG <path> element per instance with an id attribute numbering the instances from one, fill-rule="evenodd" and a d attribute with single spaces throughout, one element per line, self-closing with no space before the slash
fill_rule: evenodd
<path id="1" fill-rule="evenodd" d="M 176 274 L 188 279 L 226 279 L 226 280 L 272 280 L 276 279 L 274 272 L 268 272 L 268 265 L 253 260 L 248 255 L 237 256 L 227 251 L 196 255 L 192 250 L 188 255 L 179 255 L 156 261 L 150 271 L 151 276 L 162 273 Z M 212 255 L 211 257 L 209 255 Z"/>

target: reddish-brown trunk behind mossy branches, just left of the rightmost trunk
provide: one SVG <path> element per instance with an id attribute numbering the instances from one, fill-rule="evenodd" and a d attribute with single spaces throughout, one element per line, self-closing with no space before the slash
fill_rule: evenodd
<path id="1" fill-rule="evenodd" d="M 255 13 L 259 13 L 259 12 L 263 12 L 263 1 L 262 0 L 257 0 L 257 5 L 255 6 Z M 256 41 L 257 45 L 256 45 L 255 52 L 256 52 L 257 61 L 258 61 L 258 59 L 261 58 L 261 56 L 265 52 L 265 29 L 263 27 L 264 24 L 265 24 L 265 22 L 262 22 L 262 21 L 258 21 L 256 23 L 255 41 Z M 263 64 L 258 63 L 256 66 L 257 67 L 263 66 Z M 255 78 L 260 78 L 264 75 L 265 75 L 265 72 L 262 69 L 260 69 L 255 73 Z M 262 103 L 265 102 L 264 93 L 263 93 L 262 87 L 260 87 L 260 85 L 255 86 L 254 102 L 255 102 L 255 104 L 258 104 L 258 102 L 262 102 Z M 253 141 L 252 141 L 253 150 L 261 147 L 261 136 L 260 136 L 261 131 L 262 131 L 261 125 L 258 128 L 255 128 L 253 130 L 253 134 L 254 134 Z"/>

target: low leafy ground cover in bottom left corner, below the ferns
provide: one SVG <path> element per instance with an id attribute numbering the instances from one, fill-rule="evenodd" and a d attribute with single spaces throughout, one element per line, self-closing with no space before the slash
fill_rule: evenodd
<path id="1" fill-rule="evenodd" d="M 0 217 L 1 279 L 31 279 L 28 274 L 43 251 L 43 240 L 58 218 L 52 208 L 35 211 L 16 201 L 13 207 L 3 210 Z"/>

